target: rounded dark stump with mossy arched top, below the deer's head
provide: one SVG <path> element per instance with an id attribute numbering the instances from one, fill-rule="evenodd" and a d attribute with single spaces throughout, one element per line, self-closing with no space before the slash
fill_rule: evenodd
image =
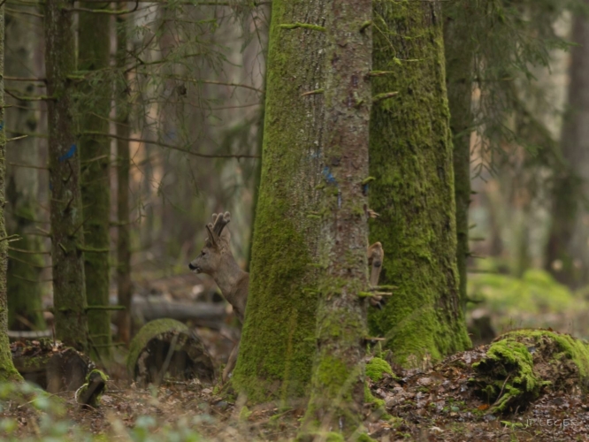
<path id="1" fill-rule="evenodd" d="M 203 342 L 185 324 L 157 319 L 145 324 L 129 347 L 126 367 L 138 385 L 160 384 L 164 377 L 211 382 L 215 367 Z"/>

